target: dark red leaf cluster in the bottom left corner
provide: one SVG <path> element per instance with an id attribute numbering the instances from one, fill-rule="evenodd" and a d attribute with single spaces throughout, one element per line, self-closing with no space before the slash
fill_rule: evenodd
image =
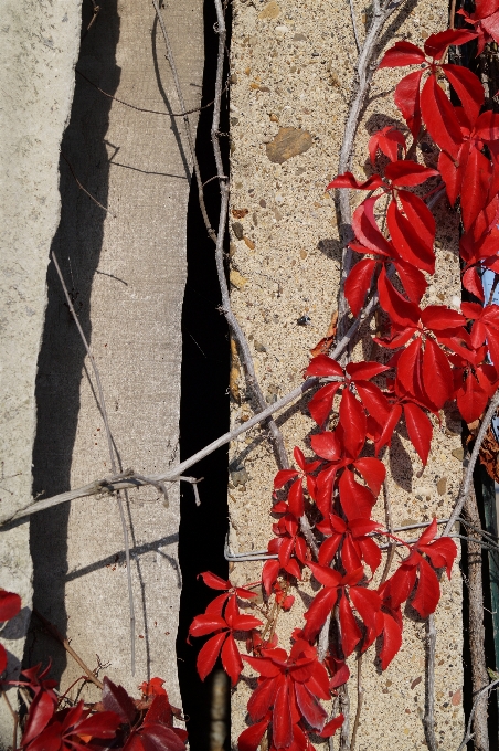
<path id="1" fill-rule="evenodd" d="M 1 621 L 14 617 L 20 606 L 19 595 L 0 590 Z M 7 659 L 0 647 L 1 675 Z M 21 673 L 23 680 L 4 681 L 32 697 L 18 751 L 185 751 L 188 734 L 173 726 L 173 718 L 182 719 L 182 713 L 170 705 L 161 678 L 144 683 L 142 698 L 132 699 L 106 677 L 98 704 L 60 708 L 57 684 L 47 678 L 49 670 L 50 665 L 44 670 L 36 665 Z"/>

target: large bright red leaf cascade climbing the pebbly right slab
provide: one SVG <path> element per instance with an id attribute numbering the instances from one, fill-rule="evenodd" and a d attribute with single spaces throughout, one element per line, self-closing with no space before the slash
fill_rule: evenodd
<path id="1" fill-rule="evenodd" d="M 499 115 L 481 112 L 485 94 L 477 76 L 443 62 L 450 44 L 478 40 L 480 51 L 490 39 L 499 41 L 499 0 L 477 2 L 474 14 L 463 14 L 473 29 L 434 34 L 424 50 L 397 42 L 385 53 L 380 67 L 417 66 L 394 94 L 406 131 L 387 126 L 372 136 L 369 155 L 375 171 L 367 180 L 346 172 L 328 186 L 370 191 L 352 218 L 350 247 L 361 258 L 352 265 L 344 294 L 353 316 L 360 315 L 369 295 L 378 294 L 386 322 L 374 341 L 391 353 L 386 364 L 343 368 L 327 356 L 323 342 L 312 350 L 306 376 L 321 380 L 308 405 L 319 427 L 310 436 L 315 456 L 308 459 L 295 448 L 297 468 L 275 477 L 274 538 L 268 543 L 273 558 L 262 573 L 264 594 L 274 595 L 278 607 L 285 606 L 289 585 L 304 570 L 319 585 L 289 654 L 277 646 L 275 635 L 272 643 L 263 639 L 256 618 L 241 615 L 237 597 L 248 600 L 247 591 L 203 574 L 210 586 L 226 594 L 191 627 L 192 635 L 215 632 L 200 653 L 201 677 L 213 667 L 222 644 L 222 663 L 233 684 L 242 659 L 259 675 L 247 706 L 253 724 L 240 737 L 241 751 L 255 751 L 266 731 L 272 750 L 290 751 L 312 749 L 311 734 L 332 734 L 342 717 L 327 722 L 321 700 L 329 700 L 348 680 L 344 660 L 354 649 L 365 652 L 375 643 L 380 666 L 386 669 L 402 646 L 404 603 L 421 618 L 428 617 L 440 597 L 442 570 L 450 578 L 457 548 L 450 538 L 437 537 L 434 519 L 412 544 L 397 540 L 407 554 L 375 586 L 382 557 L 376 538 L 393 536 L 372 519 L 372 509 L 385 479 L 380 452 L 390 446 L 401 422 L 426 465 L 432 415 L 439 420 L 444 405 L 455 401 L 464 420 L 473 422 L 499 382 L 492 364 L 499 363 L 499 307 L 484 300 L 479 276 L 484 268 L 499 273 Z M 410 150 L 406 135 L 413 139 Z M 428 163 L 408 158 L 423 136 L 434 144 Z M 436 261 L 436 222 L 426 199 L 444 190 L 450 204 L 460 208 L 463 284 L 487 303 L 485 307 L 463 303 L 457 310 L 425 304 Z M 317 561 L 301 533 L 305 516 L 318 547 Z M 333 612 L 338 644 L 329 645 L 320 663 L 314 645 Z M 234 631 L 251 633 L 252 655 L 241 658 L 233 646 Z"/>

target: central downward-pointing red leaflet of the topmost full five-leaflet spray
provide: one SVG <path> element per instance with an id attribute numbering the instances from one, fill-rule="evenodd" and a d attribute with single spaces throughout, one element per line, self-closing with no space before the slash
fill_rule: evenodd
<path id="1" fill-rule="evenodd" d="M 453 105 L 434 75 L 431 75 L 423 86 L 421 109 L 426 128 L 435 144 L 457 159 L 463 141 L 459 123 Z"/>

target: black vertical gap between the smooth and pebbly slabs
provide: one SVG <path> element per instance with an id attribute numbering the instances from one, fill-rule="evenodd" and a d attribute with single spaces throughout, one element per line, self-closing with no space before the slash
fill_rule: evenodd
<path id="1" fill-rule="evenodd" d="M 214 98 L 217 35 L 213 2 L 204 3 L 204 78 L 202 104 Z M 230 18 L 227 18 L 230 32 Z M 229 43 L 229 42 L 227 42 Z M 226 74 L 226 72 L 225 72 Z M 227 97 L 222 106 L 221 131 L 229 131 Z M 213 108 L 201 110 L 197 155 L 203 181 L 216 174 L 211 144 Z M 229 169 L 229 142 L 222 139 L 225 169 Z M 225 172 L 227 174 L 227 172 Z M 216 180 L 205 187 L 206 210 L 216 228 L 220 211 L 220 191 Z M 193 180 L 188 208 L 188 281 L 182 311 L 182 389 L 180 405 L 180 459 L 183 461 L 229 430 L 229 336 L 223 315 L 219 311 L 221 294 L 215 268 L 214 244 L 208 236 Z M 202 683 L 195 660 L 205 639 L 187 644 L 192 618 L 202 613 L 213 599 L 198 579 L 202 571 L 213 571 L 226 578 L 227 563 L 223 557 L 227 531 L 227 448 L 220 448 L 193 467 L 198 477 L 201 506 L 195 507 L 190 487 L 181 488 L 181 521 L 179 560 L 182 571 L 177 654 L 180 690 L 193 751 L 210 749 L 211 678 Z M 227 691 L 229 694 L 229 691 Z M 227 723 L 230 719 L 226 709 Z M 229 749 L 229 724 L 225 748 Z"/>

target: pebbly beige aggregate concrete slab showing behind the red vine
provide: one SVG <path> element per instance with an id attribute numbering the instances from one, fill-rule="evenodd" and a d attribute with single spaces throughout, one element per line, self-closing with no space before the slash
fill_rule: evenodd
<path id="1" fill-rule="evenodd" d="M 357 22 L 364 32 L 368 6 L 355 2 Z M 335 208 L 325 187 L 336 174 L 355 61 L 348 4 L 336 0 L 235 0 L 231 88 L 232 300 L 251 340 L 256 371 L 267 399 L 283 395 L 301 380 L 309 349 L 326 336 L 337 305 L 340 243 Z M 411 39 L 420 44 L 447 24 L 447 3 L 410 2 L 394 15 L 384 44 Z M 369 20 L 369 19 L 368 19 Z M 369 173 L 367 142 L 391 123 L 402 127 L 392 91 L 400 72 L 376 73 L 359 129 L 353 172 Z M 289 128 L 290 130 L 286 130 Z M 421 155 L 421 160 L 423 155 Z M 428 163 L 435 156 L 427 157 Z M 362 200 L 354 198 L 353 201 Z M 247 210 L 245 213 L 244 210 Z M 460 294 L 457 219 L 445 200 L 437 214 L 437 271 L 424 303 L 453 304 Z M 298 325 L 308 316 L 309 324 Z M 374 330 L 375 321 L 373 322 Z M 379 357 L 364 341 L 354 359 Z M 232 409 L 233 424 L 250 416 L 244 384 L 241 405 Z M 289 454 L 314 427 L 308 398 L 278 419 Z M 395 526 L 445 518 L 461 477 L 459 417 L 434 421 L 431 459 L 422 470 L 403 430 L 392 443 L 389 491 Z M 274 455 L 259 431 L 231 447 L 229 490 L 231 546 L 234 552 L 262 550 L 272 535 Z M 374 507 L 385 521 L 383 497 Z M 237 583 L 259 578 L 262 563 L 235 563 Z M 461 709 L 461 579 L 457 564 L 450 583 L 443 581 L 436 614 L 436 732 L 442 749 L 457 748 L 463 733 Z M 305 573 L 305 579 L 309 579 Z M 279 618 L 280 644 L 289 645 L 293 628 L 310 602 L 310 584 L 298 586 L 289 614 Z M 359 751 L 426 748 L 424 712 L 425 627 L 406 607 L 404 646 L 383 674 L 373 648 L 363 660 L 365 700 L 358 734 Z M 352 656 L 353 657 L 353 656 Z M 351 718 L 355 711 L 355 659 L 351 658 Z M 245 726 L 250 692 L 241 683 L 233 696 L 233 739 Z M 235 747 L 234 747 L 235 748 Z"/>

